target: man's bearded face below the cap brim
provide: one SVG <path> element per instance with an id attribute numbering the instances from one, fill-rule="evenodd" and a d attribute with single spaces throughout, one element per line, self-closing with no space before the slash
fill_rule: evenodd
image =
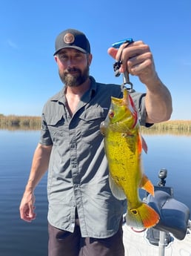
<path id="1" fill-rule="evenodd" d="M 91 54 L 73 48 L 64 48 L 55 56 L 61 81 L 66 86 L 77 87 L 89 76 Z"/>

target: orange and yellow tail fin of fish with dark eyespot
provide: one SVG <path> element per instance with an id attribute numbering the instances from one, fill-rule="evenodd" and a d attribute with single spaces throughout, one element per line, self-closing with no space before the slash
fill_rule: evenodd
<path id="1" fill-rule="evenodd" d="M 146 203 L 141 203 L 136 209 L 127 209 L 126 223 L 137 229 L 149 229 L 155 226 L 159 219 L 158 213 Z"/>

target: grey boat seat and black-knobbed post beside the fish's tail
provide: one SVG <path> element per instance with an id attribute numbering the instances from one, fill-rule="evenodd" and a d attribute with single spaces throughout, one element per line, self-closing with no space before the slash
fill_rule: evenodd
<path id="1" fill-rule="evenodd" d="M 190 209 L 184 203 L 175 200 L 172 188 L 165 186 L 167 169 L 162 168 L 158 178 L 158 186 L 154 186 L 155 197 L 149 194 L 147 204 L 159 214 L 160 220 L 155 227 L 147 229 L 147 239 L 151 244 L 158 246 L 159 255 L 164 256 L 165 246 L 173 237 L 183 240 L 186 236 Z"/>

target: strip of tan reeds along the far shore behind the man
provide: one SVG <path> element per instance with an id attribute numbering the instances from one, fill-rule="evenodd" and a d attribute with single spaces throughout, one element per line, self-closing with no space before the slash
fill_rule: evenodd
<path id="1" fill-rule="evenodd" d="M 10 131 L 31 130 L 38 131 L 41 129 L 41 116 L 4 116 L 0 114 L 0 129 Z M 160 122 L 145 128 L 141 126 L 142 134 L 173 134 L 191 136 L 191 119 L 190 120 L 169 120 Z"/>

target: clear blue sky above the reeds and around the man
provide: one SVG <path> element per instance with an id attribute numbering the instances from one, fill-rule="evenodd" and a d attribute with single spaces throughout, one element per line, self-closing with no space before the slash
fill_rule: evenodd
<path id="1" fill-rule="evenodd" d="M 61 81 L 53 59 L 56 36 L 67 28 L 90 40 L 90 74 L 98 82 L 121 84 L 107 48 L 120 39 L 142 40 L 172 93 L 172 119 L 191 119 L 190 0 L 7 0 L 0 3 L 0 114 L 41 115 Z M 136 91 L 145 91 L 130 76 Z"/>

